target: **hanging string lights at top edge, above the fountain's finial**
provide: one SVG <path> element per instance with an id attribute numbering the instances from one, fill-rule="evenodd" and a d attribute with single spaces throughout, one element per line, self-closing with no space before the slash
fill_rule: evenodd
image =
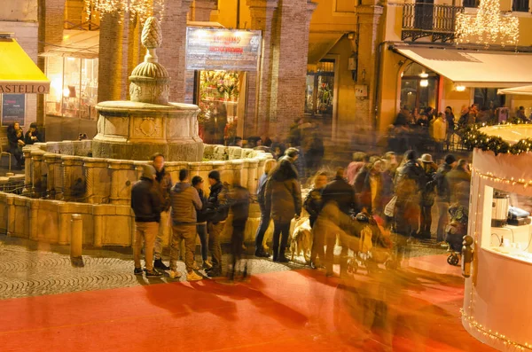
<path id="1" fill-rule="evenodd" d="M 106 13 L 119 13 L 121 20 L 125 13 L 129 13 L 129 20 L 138 18 L 144 23 L 149 17 L 155 16 L 162 20 L 165 0 L 84 0 L 87 20 L 92 12 L 96 12 L 100 18 Z"/>

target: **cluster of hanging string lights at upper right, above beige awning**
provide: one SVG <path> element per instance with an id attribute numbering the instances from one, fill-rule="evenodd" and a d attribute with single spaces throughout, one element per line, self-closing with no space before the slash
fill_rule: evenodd
<path id="1" fill-rule="evenodd" d="M 455 25 L 458 43 L 517 45 L 519 19 L 501 14 L 498 0 L 481 0 L 477 13 L 458 13 Z"/>

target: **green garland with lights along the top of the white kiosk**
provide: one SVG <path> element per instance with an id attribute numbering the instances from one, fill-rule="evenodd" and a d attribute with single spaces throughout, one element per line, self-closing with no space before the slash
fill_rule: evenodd
<path id="1" fill-rule="evenodd" d="M 497 155 L 498 153 L 511 153 L 517 155 L 520 153 L 528 153 L 532 150 L 532 138 L 520 139 L 516 144 L 510 145 L 502 137 L 488 136 L 481 132 L 479 125 L 467 126 L 464 129 L 462 142 L 464 145 L 472 149 L 479 148 L 482 151 L 492 151 Z"/>

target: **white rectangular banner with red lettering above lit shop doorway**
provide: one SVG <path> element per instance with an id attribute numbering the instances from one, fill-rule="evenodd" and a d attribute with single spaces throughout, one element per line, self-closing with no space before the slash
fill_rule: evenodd
<path id="1" fill-rule="evenodd" d="M 187 70 L 257 70 L 262 35 L 258 30 L 186 28 Z"/>

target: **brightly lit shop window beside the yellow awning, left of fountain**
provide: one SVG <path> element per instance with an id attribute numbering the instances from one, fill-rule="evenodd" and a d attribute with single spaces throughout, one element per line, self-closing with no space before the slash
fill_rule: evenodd
<path id="1" fill-rule="evenodd" d="M 46 114 L 96 118 L 98 59 L 48 57 L 46 75 L 51 80 L 50 94 L 45 96 Z"/>

